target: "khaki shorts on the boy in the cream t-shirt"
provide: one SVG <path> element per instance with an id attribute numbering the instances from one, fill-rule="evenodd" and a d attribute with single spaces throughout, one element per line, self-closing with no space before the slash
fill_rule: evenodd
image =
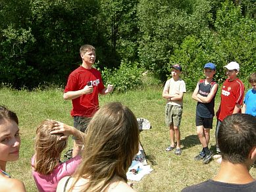
<path id="1" fill-rule="evenodd" d="M 182 120 L 183 107 L 178 105 L 165 105 L 165 124 L 170 126 L 173 124 L 175 127 L 180 127 Z"/>

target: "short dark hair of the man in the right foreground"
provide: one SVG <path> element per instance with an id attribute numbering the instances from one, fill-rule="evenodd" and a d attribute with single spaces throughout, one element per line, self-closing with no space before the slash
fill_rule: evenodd
<path id="1" fill-rule="evenodd" d="M 233 164 L 247 160 L 256 146 L 256 117 L 250 114 L 232 114 L 220 125 L 217 135 L 222 159 Z"/>

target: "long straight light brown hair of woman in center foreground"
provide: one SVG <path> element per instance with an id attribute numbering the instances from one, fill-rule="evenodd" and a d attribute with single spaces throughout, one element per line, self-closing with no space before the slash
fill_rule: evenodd
<path id="1" fill-rule="evenodd" d="M 89 180 L 83 191 L 103 191 L 115 176 L 127 181 L 139 142 L 138 122 L 128 107 L 115 102 L 100 108 L 86 130 L 83 160 L 72 187 L 80 178 Z"/>

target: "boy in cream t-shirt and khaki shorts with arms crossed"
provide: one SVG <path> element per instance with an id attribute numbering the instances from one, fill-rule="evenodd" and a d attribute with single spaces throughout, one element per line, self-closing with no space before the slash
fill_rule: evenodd
<path id="1" fill-rule="evenodd" d="M 165 151 L 175 149 L 174 135 L 177 145 L 174 153 L 181 155 L 180 149 L 180 122 L 182 119 L 183 95 L 186 93 L 186 84 L 180 78 L 182 66 L 180 64 L 172 65 L 172 78 L 167 80 L 163 89 L 163 98 L 166 99 L 165 105 L 165 123 L 170 128 L 170 146 Z"/>

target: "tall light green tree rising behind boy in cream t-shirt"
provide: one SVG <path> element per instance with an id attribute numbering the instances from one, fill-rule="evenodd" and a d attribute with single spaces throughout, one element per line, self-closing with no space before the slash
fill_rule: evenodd
<path id="1" fill-rule="evenodd" d="M 176 49 L 193 34 L 201 36 L 208 30 L 211 7 L 208 1 L 148 1 L 138 5 L 140 32 L 140 61 L 163 79 L 167 63 Z"/>

